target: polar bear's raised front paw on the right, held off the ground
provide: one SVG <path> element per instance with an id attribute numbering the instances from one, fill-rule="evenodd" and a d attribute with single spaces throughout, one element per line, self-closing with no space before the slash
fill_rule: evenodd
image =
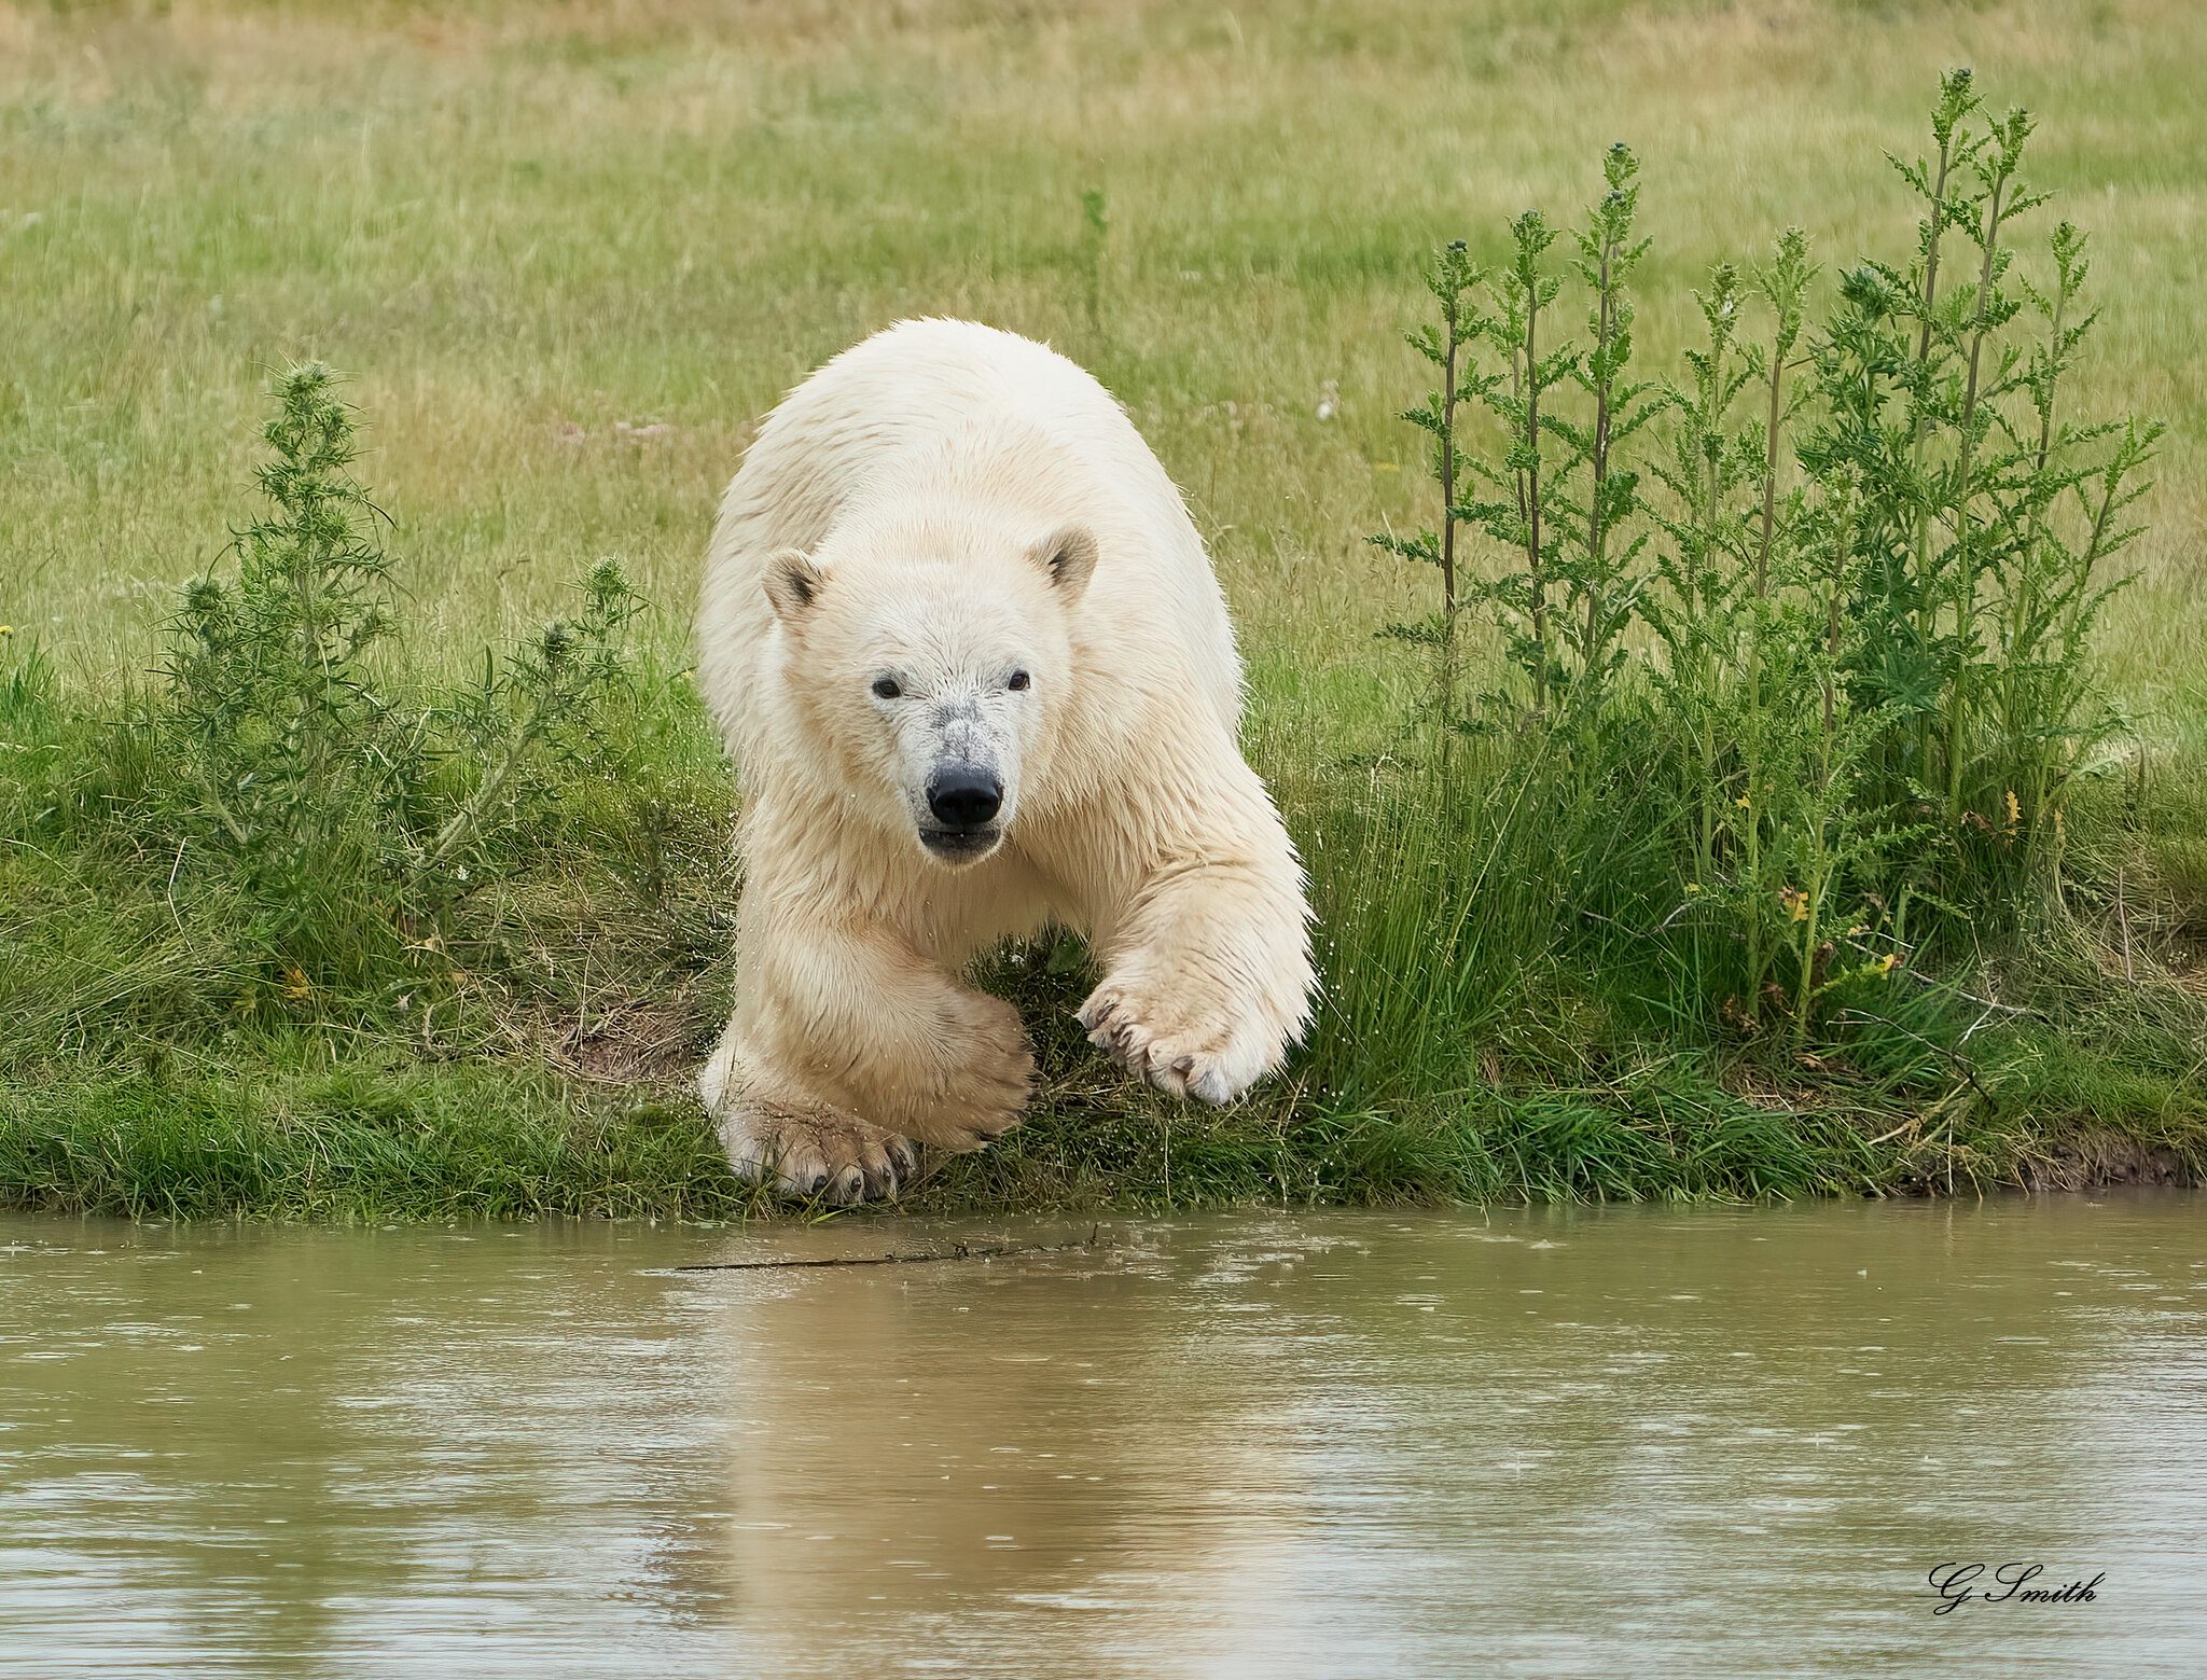
<path id="1" fill-rule="evenodd" d="M 1302 872 L 1284 832 L 1251 850 L 1150 870 L 1110 918 L 1104 982 L 1079 1009 L 1095 1044 L 1174 1097 L 1234 1102 L 1311 1018 Z"/>

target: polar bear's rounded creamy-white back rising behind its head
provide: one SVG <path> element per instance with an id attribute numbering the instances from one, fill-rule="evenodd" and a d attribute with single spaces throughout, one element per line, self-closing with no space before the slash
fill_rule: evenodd
<path id="1" fill-rule="evenodd" d="M 1044 521 L 1097 530 L 1104 563 L 1081 616 L 1115 671 L 1203 691 L 1229 733 L 1240 662 L 1203 541 L 1165 468 L 1075 362 L 967 320 L 907 320 L 854 344 L 768 415 L 722 501 L 700 605 L 700 684 L 731 746 L 753 735 L 757 660 L 772 636 L 766 561 L 810 552 L 847 508 L 889 492 L 956 437 L 1037 439 L 1006 450 L 1004 495 Z"/>

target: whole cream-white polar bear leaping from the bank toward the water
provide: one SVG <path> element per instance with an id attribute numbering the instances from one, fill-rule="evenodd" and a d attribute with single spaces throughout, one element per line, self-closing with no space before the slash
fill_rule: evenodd
<path id="1" fill-rule="evenodd" d="M 907 320 L 766 419 L 706 556 L 697 682 L 742 786 L 735 1011 L 700 1077 L 728 1159 L 894 1194 L 1020 1117 L 1006 936 L 1088 936 L 1088 1035 L 1232 1102 L 1311 1020 L 1302 868 L 1236 744 L 1225 598 L 1088 373 Z"/>

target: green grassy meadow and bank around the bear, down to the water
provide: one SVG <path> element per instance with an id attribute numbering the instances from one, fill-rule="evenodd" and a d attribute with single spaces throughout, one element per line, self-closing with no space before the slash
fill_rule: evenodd
<path id="1" fill-rule="evenodd" d="M 1251 753 L 1313 870 L 1329 1004 L 1287 1082 L 1201 1115 L 1123 1088 L 1070 1031 L 1079 949 L 1004 954 L 991 985 L 1037 1031 L 1042 1104 L 918 1205 L 1960 1190 L 2207 1163 L 2189 9 L 0 9 L 0 42 L 7 1199 L 750 1205 L 684 1091 L 724 1011 L 735 887 L 686 600 L 748 424 L 841 344 L 929 311 L 1092 364 L 1190 492 L 1249 653 Z M 1602 706 L 1618 733 L 1574 748 L 1600 775 L 1529 770 L 1554 759 L 1525 757 L 1525 729 L 1437 709 L 1430 642 L 1375 638 L 1430 625 L 1435 594 L 1364 536 L 1435 525 L 1426 439 L 1397 415 L 1428 384 L 1399 333 L 1437 241 L 1505 263 L 1510 219 L 1578 216 L 1627 137 L 1655 236 L 1633 364 L 1686 380 L 1691 291 L 1781 225 L 1825 263 L 1816 320 L 1856 254 L 1905 265 L 1920 205 L 1878 152 L 1925 148 L 1955 62 L 2041 115 L 2046 216 L 2092 234 L 2077 413 L 2172 430 L 2112 567 L 2136 581 L 2092 636 L 2112 709 L 2041 731 L 2066 742 L 2057 865 L 1989 885 L 2055 806 L 2011 837 L 2004 784 L 1940 777 L 1936 823 L 1889 823 L 1944 834 L 1896 865 L 1907 916 L 1883 876 L 1834 876 L 1834 916 L 1883 905 L 1854 923 L 1878 974 L 1838 989 L 1814 936 L 1794 969 L 1739 969 L 1746 923 L 1684 916 L 1737 887 L 1772 949 L 1799 938 L 1799 876 L 1737 885 L 1735 841 L 1673 843 L 1695 801 L 1699 832 L 1739 832 L 1755 793 L 1732 757 L 1684 751 L 1635 687 Z M 2017 260 L 2046 283 L 2039 245 Z M 1582 331 L 1576 300 L 1563 313 Z M 369 832 L 282 828 L 252 852 L 177 793 L 163 625 L 225 532 L 267 517 L 247 486 L 269 366 L 294 358 L 358 371 L 353 472 L 404 627 L 362 649 L 373 720 L 344 724 L 366 746 L 338 759 L 411 768 L 344 784 L 373 795 Z M 1505 536 L 1463 545 L 1468 592 L 1510 572 Z M 589 623 L 576 578 L 607 554 L 651 603 L 614 638 L 618 680 L 534 706 L 541 627 Z M 1618 645 L 1664 671 L 1651 625 L 1620 620 Z M 1476 614 L 1454 658 L 1452 687 L 1512 691 L 1521 717 L 1512 684 L 1552 662 Z M 278 832 L 271 810 L 232 828 Z M 302 834 L 322 863 L 296 865 Z"/>

